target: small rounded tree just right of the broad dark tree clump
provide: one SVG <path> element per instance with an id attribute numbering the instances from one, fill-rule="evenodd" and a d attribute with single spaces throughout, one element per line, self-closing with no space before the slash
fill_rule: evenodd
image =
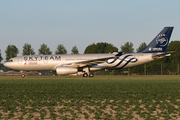
<path id="1" fill-rule="evenodd" d="M 124 45 L 121 45 L 121 52 L 132 53 L 134 52 L 133 43 L 126 42 Z"/>

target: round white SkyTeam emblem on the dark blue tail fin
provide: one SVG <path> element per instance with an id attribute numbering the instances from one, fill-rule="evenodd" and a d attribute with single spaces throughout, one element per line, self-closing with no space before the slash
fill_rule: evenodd
<path id="1" fill-rule="evenodd" d="M 164 47 L 168 44 L 168 40 L 166 38 L 166 35 L 165 34 L 160 34 L 156 37 L 156 44 L 161 47 Z"/>

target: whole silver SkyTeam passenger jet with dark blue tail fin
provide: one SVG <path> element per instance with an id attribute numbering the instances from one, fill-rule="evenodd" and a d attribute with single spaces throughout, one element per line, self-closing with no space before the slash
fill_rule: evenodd
<path id="1" fill-rule="evenodd" d="M 173 27 L 165 27 L 138 53 L 26 55 L 11 58 L 4 66 L 20 71 L 56 71 L 58 75 L 83 72 L 83 77 L 93 77 L 91 71 L 129 68 L 170 56 L 172 52 L 166 52 L 166 48 L 172 31 Z"/>

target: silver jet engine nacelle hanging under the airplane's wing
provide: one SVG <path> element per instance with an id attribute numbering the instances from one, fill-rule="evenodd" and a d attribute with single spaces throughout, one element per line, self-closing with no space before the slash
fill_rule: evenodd
<path id="1" fill-rule="evenodd" d="M 58 66 L 56 67 L 56 73 L 58 75 L 67 75 L 77 72 L 77 68 L 68 67 L 68 66 Z"/>

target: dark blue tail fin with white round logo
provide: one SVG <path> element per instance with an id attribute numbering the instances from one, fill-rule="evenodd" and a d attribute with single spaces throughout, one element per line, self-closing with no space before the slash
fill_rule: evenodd
<path id="1" fill-rule="evenodd" d="M 164 27 L 152 42 L 139 53 L 166 52 L 173 28 L 174 27 Z"/>

